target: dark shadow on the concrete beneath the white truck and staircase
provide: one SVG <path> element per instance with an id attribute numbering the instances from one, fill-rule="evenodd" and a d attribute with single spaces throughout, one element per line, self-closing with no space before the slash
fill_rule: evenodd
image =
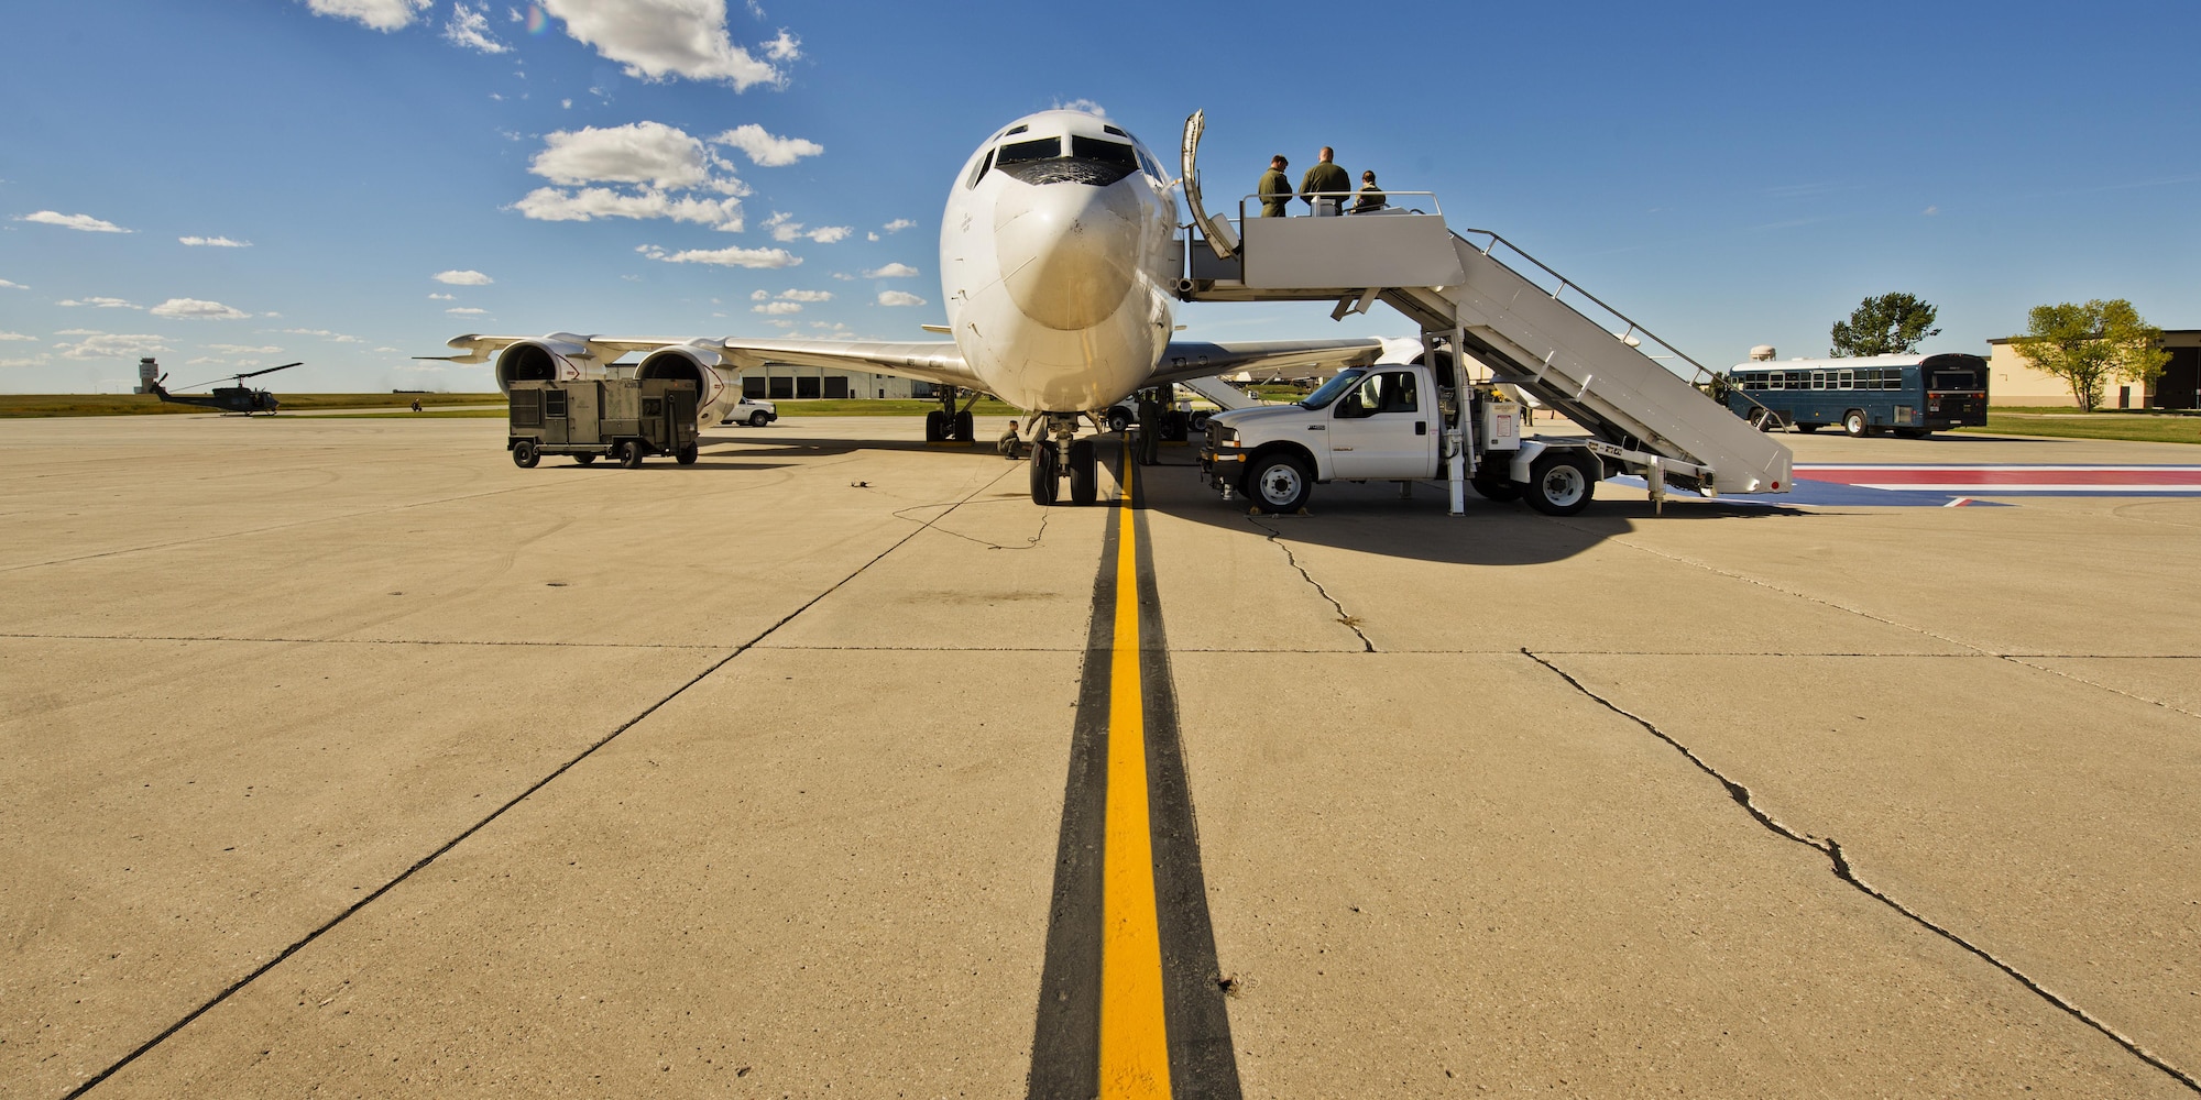
<path id="1" fill-rule="evenodd" d="M 1415 482 L 1413 495 L 1398 497 L 1395 482 L 1332 482 L 1314 488 L 1307 515 L 1248 515 L 1244 497 L 1222 499 L 1200 480 L 1200 469 L 1164 455 L 1147 477 L 1147 508 L 1257 537 L 1274 535 L 1294 543 L 1329 546 L 1450 565 L 1538 565 L 1565 561 L 1605 539 L 1629 535 L 1642 524 L 1690 524 L 1704 519 L 1807 519 L 1814 513 L 1726 504 L 1717 499 L 1668 497 L 1664 515 L 1646 499 L 1598 499 L 1574 517 L 1547 517 L 1519 502 L 1490 502 L 1468 493 L 1466 515 L 1448 515 L 1444 482 Z"/>

